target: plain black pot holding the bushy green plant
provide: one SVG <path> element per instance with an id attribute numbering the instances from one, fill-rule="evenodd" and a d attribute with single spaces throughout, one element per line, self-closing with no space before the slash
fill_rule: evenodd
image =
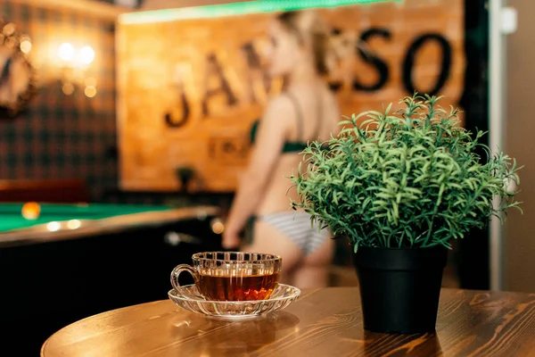
<path id="1" fill-rule="evenodd" d="M 366 330 L 406 334 L 435 330 L 447 248 L 359 247 L 353 258 Z"/>

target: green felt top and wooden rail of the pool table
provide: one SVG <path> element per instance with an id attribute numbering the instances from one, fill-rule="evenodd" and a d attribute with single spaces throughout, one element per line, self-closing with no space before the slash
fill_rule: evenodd
<path id="1" fill-rule="evenodd" d="M 28 203 L 0 203 L 0 247 L 51 242 L 146 227 L 218 214 L 215 207 L 176 209 L 170 206 L 127 204 L 39 204 L 35 219 L 22 211 Z M 191 236 L 188 236 L 191 238 Z"/>

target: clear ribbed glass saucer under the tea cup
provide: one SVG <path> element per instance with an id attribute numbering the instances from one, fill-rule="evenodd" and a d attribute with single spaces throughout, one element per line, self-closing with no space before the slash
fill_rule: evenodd
<path id="1" fill-rule="evenodd" d="M 267 300 L 256 301 L 209 301 L 202 297 L 197 286 L 188 285 L 178 291 L 169 290 L 169 299 L 177 306 L 203 315 L 224 319 L 245 319 L 268 312 L 283 310 L 300 295 L 300 289 L 279 284 Z"/>

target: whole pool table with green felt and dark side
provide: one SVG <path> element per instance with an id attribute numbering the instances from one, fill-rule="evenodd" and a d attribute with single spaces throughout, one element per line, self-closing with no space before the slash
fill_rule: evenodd
<path id="1" fill-rule="evenodd" d="M 41 204 L 35 220 L 21 212 L 21 203 L 0 203 L 0 355 L 38 355 L 70 322 L 166 299 L 173 267 L 221 249 L 217 207 Z"/>

